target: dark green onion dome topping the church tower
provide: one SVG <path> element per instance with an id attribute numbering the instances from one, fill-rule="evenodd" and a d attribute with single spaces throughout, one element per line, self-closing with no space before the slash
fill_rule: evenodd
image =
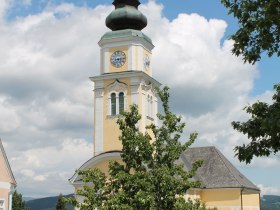
<path id="1" fill-rule="evenodd" d="M 147 18 L 139 10 L 138 0 L 114 0 L 115 10 L 106 18 L 106 26 L 112 31 L 134 29 L 141 31 L 147 26 Z"/>

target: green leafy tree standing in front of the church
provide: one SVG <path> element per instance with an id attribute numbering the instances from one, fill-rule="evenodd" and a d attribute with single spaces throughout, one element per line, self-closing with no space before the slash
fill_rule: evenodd
<path id="1" fill-rule="evenodd" d="M 205 209 L 199 202 L 186 201 L 182 196 L 190 187 L 198 187 L 197 181 L 190 181 L 202 161 L 193 163 L 192 170 L 186 171 L 183 165 L 176 164 L 180 154 L 196 139 L 190 134 L 186 143 L 179 141 L 185 126 L 181 117 L 171 113 L 168 105 L 168 88 L 158 91 L 163 104 L 163 114 L 158 114 L 161 126 L 151 124 L 147 127 L 155 141 L 146 132 L 138 129 L 141 119 L 136 105 L 130 112 L 118 119 L 123 145 L 121 158 L 124 164 L 111 162 L 109 177 L 98 169 L 79 171 L 84 182 L 83 189 L 77 191 L 84 197 L 83 203 L 74 198 L 70 203 L 82 210 L 129 209 L 129 210 L 169 210 Z"/>

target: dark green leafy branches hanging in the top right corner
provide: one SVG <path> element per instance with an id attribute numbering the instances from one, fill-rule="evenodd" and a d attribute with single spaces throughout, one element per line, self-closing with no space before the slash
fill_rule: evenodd
<path id="1" fill-rule="evenodd" d="M 254 64 L 261 53 L 280 56 L 279 0 L 221 0 L 238 19 L 239 29 L 230 38 L 235 41 L 233 54 Z"/>

